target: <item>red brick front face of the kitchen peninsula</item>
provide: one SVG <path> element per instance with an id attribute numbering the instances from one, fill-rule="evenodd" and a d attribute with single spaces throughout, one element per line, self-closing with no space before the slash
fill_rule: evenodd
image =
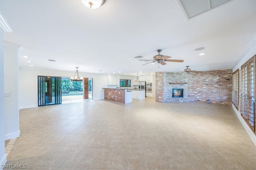
<path id="1" fill-rule="evenodd" d="M 125 103 L 125 89 L 104 89 L 104 99 Z"/>

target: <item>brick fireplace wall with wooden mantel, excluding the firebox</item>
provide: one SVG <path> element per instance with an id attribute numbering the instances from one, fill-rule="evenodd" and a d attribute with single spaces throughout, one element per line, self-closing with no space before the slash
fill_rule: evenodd
<path id="1" fill-rule="evenodd" d="M 184 98 L 172 98 L 172 88 L 183 88 Z M 215 104 L 231 105 L 231 97 L 232 70 L 191 72 L 190 74 L 156 72 L 157 102 L 206 102 L 210 100 Z"/>

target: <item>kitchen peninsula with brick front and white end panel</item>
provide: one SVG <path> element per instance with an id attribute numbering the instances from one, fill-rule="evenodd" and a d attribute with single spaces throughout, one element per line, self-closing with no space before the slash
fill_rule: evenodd
<path id="1" fill-rule="evenodd" d="M 132 91 L 121 88 L 104 88 L 104 99 L 124 104 L 131 103 Z"/>

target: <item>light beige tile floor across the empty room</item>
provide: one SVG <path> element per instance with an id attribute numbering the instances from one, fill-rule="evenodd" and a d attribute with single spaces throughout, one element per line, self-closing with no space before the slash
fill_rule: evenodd
<path id="1" fill-rule="evenodd" d="M 20 110 L 6 164 L 28 170 L 255 170 L 256 146 L 231 106 L 108 100 Z"/>

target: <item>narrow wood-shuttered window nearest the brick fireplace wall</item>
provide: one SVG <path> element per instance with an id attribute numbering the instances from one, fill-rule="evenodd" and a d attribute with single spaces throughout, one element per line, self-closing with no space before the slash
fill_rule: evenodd
<path id="1" fill-rule="evenodd" d="M 236 109 L 238 110 L 239 103 L 239 69 L 233 72 L 232 76 L 233 84 L 232 84 L 232 102 Z"/>

